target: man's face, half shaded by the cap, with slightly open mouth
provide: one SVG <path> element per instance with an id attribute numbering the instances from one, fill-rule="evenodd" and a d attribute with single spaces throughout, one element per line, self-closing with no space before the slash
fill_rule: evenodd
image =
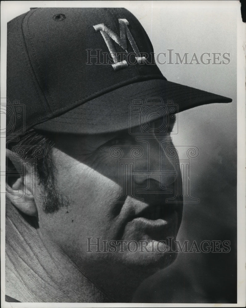
<path id="1" fill-rule="evenodd" d="M 159 137 L 154 130 L 138 138 L 128 130 L 57 136 L 57 189 L 69 205 L 52 214 L 39 211 L 39 225 L 85 273 L 105 264 L 154 272 L 175 259 L 168 237 L 176 238 L 182 199 L 166 201 L 180 181 L 177 158 L 166 153 L 173 124 Z"/>

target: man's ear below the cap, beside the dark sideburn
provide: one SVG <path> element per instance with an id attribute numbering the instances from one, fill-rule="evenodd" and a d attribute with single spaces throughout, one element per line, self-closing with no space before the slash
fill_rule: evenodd
<path id="1" fill-rule="evenodd" d="M 32 182 L 36 174 L 31 168 L 23 172 L 22 160 L 6 149 L 6 196 L 17 209 L 29 216 L 38 216 Z"/>

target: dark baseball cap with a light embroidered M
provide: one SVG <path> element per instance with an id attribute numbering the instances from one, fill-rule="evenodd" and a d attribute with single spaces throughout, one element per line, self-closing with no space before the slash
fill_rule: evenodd
<path id="1" fill-rule="evenodd" d="M 7 30 L 7 103 L 19 114 L 7 116 L 7 133 L 122 130 L 139 125 L 149 98 L 172 102 L 175 112 L 232 101 L 168 81 L 153 52 L 124 8 L 33 8 L 14 18 Z M 150 110 L 151 120 L 161 116 L 154 103 Z"/>

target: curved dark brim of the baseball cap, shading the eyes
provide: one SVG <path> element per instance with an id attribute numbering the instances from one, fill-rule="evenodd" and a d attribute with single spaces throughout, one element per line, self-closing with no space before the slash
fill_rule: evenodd
<path id="1" fill-rule="evenodd" d="M 230 103 L 232 99 L 210 92 L 187 87 L 163 79 L 152 79 L 128 84 L 100 95 L 66 113 L 35 125 L 34 128 L 49 132 L 96 134 L 114 132 L 140 125 L 141 111 L 131 112 L 133 101 L 149 105 L 152 99 L 161 98 L 163 106 L 173 104 L 175 112 L 210 103 Z M 169 101 L 169 104 L 167 102 Z M 160 106 L 160 104 L 158 103 Z M 151 113 L 151 120 L 161 117 Z M 149 121 L 150 117 L 141 119 Z"/>

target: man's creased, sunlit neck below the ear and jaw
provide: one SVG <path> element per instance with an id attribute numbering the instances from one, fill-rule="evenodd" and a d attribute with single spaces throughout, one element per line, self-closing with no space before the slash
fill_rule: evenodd
<path id="1" fill-rule="evenodd" d="M 111 302 L 59 249 L 6 204 L 6 294 L 20 302 Z"/>

